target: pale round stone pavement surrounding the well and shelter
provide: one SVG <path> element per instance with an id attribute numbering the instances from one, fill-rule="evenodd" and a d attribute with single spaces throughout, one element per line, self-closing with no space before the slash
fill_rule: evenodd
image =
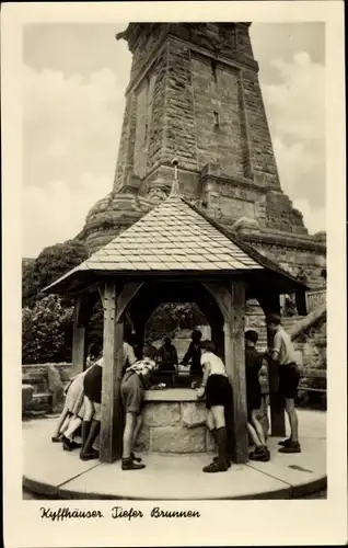
<path id="1" fill-rule="evenodd" d="M 206 475 L 211 455 L 143 454 L 147 468 L 123 471 L 120 463 L 83 463 L 50 442 L 55 419 L 23 423 L 23 486 L 55 499 L 241 500 L 303 498 L 326 488 L 326 413 L 299 410 L 302 453 L 279 454 L 269 438 L 271 460 L 232 465 Z"/>

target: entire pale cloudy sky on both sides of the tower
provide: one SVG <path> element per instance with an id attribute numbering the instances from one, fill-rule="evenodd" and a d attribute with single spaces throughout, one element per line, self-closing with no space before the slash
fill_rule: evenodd
<path id="1" fill-rule="evenodd" d="M 23 35 L 22 256 L 73 238 L 113 186 L 131 55 L 125 24 L 33 24 Z M 325 230 L 325 25 L 254 23 L 282 190 Z"/>

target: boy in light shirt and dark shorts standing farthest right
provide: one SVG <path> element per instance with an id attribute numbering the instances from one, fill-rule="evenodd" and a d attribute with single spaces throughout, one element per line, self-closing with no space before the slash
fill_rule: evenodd
<path id="1" fill-rule="evenodd" d="M 294 408 L 300 373 L 294 357 L 291 336 L 281 326 L 280 316 L 270 313 L 266 317 L 266 326 L 274 335 L 272 347 L 268 356 L 277 364 L 279 375 L 279 392 L 285 399 L 285 409 L 289 418 L 291 435 L 288 439 L 279 442 L 282 447 L 279 453 L 301 453 L 299 443 L 299 421 Z"/>

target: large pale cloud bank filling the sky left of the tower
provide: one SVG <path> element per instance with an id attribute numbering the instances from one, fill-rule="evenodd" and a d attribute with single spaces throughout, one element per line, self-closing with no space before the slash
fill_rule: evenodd
<path id="1" fill-rule="evenodd" d="M 74 237 L 113 185 L 124 83 L 104 68 L 90 77 L 24 69 L 23 254 Z"/>

